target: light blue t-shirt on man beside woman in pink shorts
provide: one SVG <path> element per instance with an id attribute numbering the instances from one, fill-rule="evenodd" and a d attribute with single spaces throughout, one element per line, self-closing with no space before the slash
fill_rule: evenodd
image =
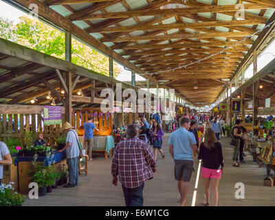
<path id="1" fill-rule="evenodd" d="M 173 145 L 174 159 L 194 160 L 191 145 L 197 142 L 193 133 L 181 127 L 170 134 L 168 144 Z"/>

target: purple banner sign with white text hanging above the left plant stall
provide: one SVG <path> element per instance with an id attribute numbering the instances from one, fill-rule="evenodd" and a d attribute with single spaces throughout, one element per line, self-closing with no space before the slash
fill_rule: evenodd
<path id="1" fill-rule="evenodd" d="M 43 106 L 44 125 L 62 124 L 61 106 Z"/>

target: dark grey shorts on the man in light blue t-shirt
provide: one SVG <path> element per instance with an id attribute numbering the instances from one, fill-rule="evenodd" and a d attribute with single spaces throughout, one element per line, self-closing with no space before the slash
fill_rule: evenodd
<path id="1" fill-rule="evenodd" d="M 177 181 L 190 181 L 193 171 L 192 160 L 174 159 L 175 161 L 175 179 Z"/>

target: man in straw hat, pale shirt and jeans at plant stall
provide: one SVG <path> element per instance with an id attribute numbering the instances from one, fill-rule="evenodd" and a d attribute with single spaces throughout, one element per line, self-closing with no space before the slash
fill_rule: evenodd
<path id="1" fill-rule="evenodd" d="M 67 133 L 66 146 L 63 147 L 58 152 L 63 152 L 66 150 L 67 154 L 67 166 L 69 171 L 69 183 L 65 185 L 65 188 L 75 187 L 78 184 L 78 157 L 79 157 L 79 146 L 78 146 L 78 135 L 74 130 L 74 127 L 65 122 L 62 125 L 62 131 Z"/>

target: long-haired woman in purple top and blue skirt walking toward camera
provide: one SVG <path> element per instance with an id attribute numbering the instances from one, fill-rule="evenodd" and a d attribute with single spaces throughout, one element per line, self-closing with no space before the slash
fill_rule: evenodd
<path id="1" fill-rule="evenodd" d="M 162 137 L 164 136 L 164 131 L 162 130 L 161 126 L 159 126 L 159 122 L 155 121 L 153 124 L 153 148 L 154 148 L 154 155 L 155 160 L 157 160 L 157 150 L 159 153 L 162 154 L 162 159 L 164 159 L 165 155 L 162 151 Z"/>

